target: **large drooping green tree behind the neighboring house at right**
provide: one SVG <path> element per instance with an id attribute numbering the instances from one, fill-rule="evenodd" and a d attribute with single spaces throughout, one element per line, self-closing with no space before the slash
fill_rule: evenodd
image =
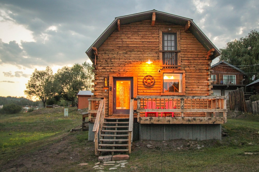
<path id="1" fill-rule="evenodd" d="M 259 78 L 259 33 L 252 30 L 245 38 L 228 42 L 220 49 L 220 60 L 242 69 L 249 77 Z"/>

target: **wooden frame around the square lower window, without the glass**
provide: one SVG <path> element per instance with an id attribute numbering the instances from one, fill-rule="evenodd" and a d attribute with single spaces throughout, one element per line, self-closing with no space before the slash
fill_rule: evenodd
<path id="1" fill-rule="evenodd" d="M 164 92 L 164 73 L 182 74 L 182 92 Z M 161 72 L 161 95 L 185 95 L 185 71 L 183 70 L 162 70 Z"/>

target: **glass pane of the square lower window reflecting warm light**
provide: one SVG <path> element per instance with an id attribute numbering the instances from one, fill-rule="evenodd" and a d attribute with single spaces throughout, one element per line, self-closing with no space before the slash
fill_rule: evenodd
<path id="1" fill-rule="evenodd" d="M 164 73 L 163 92 L 182 92 L 182 74 Z"/>

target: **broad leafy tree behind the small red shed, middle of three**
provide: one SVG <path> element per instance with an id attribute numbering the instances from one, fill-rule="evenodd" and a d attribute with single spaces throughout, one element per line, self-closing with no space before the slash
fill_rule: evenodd
<path id="1" fill-rule="evenodd" d="M 57 70 L 55 79 L 59 82 L 59 94 L 75 106 L 76 94 L 86 87 L 86 74 L 83 66 L 74 64 L 72 67 L 64 66 Z"/>

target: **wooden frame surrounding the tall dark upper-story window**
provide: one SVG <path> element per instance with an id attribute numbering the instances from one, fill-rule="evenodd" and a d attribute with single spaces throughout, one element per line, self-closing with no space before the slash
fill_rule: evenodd
<path id="1" fill-rule="evenodd" d="M 170 69 L 181 69 L 181 45 L 180 45 L 180 29 L 162 28 L 159 29 L 159 64 L 163 65 L 163 33 L 175 33 L 176 34 L 176 48 L 174 52 L 177 52 L 177 65 L 171 65 Z M 165 69 L 161 67 L 162 69 Z"/>

